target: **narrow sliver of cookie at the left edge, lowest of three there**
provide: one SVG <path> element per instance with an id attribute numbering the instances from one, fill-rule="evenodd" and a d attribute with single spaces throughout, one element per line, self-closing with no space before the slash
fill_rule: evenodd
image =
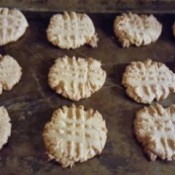
<path id="1" fill-rule="evenodd" d="M 0 107 L 0 149 L 7 143 L 9 136 L 11 135 L 11 123 L 7 110 Z"/>

